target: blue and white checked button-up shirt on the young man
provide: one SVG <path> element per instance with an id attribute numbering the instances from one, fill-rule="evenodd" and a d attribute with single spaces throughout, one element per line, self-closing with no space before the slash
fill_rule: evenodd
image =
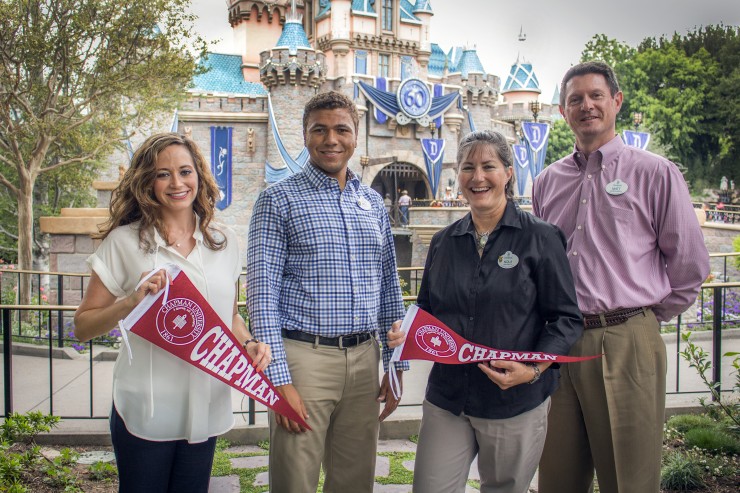
<path id="1" fill-rule="evenodd" d="M 274 385 L 292 382 L 281 329 L 324 337 L 377 330 L 387 371 L 386 331 L 404 307 L 380 195 L 350 170 L 340 190 L 310 163 L 264 190 L 249 226 L 247 306 L 254 336 L 271 346 Z"/>

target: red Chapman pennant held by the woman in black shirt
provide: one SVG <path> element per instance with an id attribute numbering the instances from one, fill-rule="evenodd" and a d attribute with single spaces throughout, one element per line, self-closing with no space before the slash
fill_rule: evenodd
<path id="1" fill-rule="evenodd" d="M 600 354 L 575 357 L 489 348 L 467 341 L 416 305 L 409 307 L 401 330 L 406 332 L 406 342 L 402 346 L 398 360 L 422 359 L 448 365 L 462 365 L 490 360 L 574 363 L 601 357 Z M 396 348 L 396 351 L 399 349 L 401 348 Z"/>

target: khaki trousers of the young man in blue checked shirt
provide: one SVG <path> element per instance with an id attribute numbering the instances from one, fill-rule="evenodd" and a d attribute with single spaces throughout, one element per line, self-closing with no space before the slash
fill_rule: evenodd
<path id="1" fill-rule="evenodd" d="M 378 445 L 380 349 L 375 339 L 348 349 L 283 339 L 293 385 L 312 431 L 291 434 L 270 413 L 270 491 L 373 490 Z"/>

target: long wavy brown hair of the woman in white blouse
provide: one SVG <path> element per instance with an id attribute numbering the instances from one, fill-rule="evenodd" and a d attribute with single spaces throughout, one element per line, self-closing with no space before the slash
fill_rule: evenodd
<path id="1" fill-rule="evenodd" d="M 193 158 L 198 174 L 198 193 L 193 202 L 193 209 L 200 218 L 199 228 L 203 234 L 203 241 L 211 250 L 221 250 L 226 246 L 226 236 L 214 235 L 220 232 L 211 227 L 216 202 L 219 199 L 216 180 L 195 142 L 172 132 L 152 135 L 136 150 L 131 159 L 131 166 L 113 191 L 110 219 L 103 225 L 100 234 L 94 236 L 95 238 L 104 239 L 117 227 L 139 221 L 139 246 L 142 250 L 148 251 L 152 248 L 154 241 L 151 236 L 152 226 L 159 231 L 168 245 L 171 243 L 162 219 L 161 204 L 154 196 L 157 157 L 171 145 L 184 146 Z"/>

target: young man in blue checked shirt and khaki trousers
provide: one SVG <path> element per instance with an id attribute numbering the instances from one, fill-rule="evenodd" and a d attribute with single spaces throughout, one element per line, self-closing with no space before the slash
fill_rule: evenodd
<path id="1" fill-rule="evenodd" d="M 347 168 L 358 123 L 346 96 L 314 96 L 310 162 L 260 194 L 249 228 L 252 330 L 272 348 L 267 376 L 312 428 L 270 413 L 274 493 L 314 493 L 322 463 L 325 492 L 371 492 L 379 422 L 398 406 L 387 373 L 379 383 L 376 335 L 387 371 L 386 331 L 404 308 L 383 199 Z"/>

